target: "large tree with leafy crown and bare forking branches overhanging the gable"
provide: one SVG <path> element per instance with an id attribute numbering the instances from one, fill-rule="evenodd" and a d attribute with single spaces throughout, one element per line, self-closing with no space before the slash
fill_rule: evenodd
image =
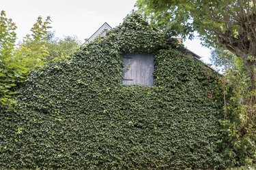
<path id="1" fill-rule="evenodd" d="M 137 7 L 170 35 L 193 38 L 197 31 L 206 46 L 218 44 L 242 58 L 251 78 L 249 90 L 255 90 L 255 0 L 138 0 Z M 255 95 L 248 102 L 255 104 Z"/>

